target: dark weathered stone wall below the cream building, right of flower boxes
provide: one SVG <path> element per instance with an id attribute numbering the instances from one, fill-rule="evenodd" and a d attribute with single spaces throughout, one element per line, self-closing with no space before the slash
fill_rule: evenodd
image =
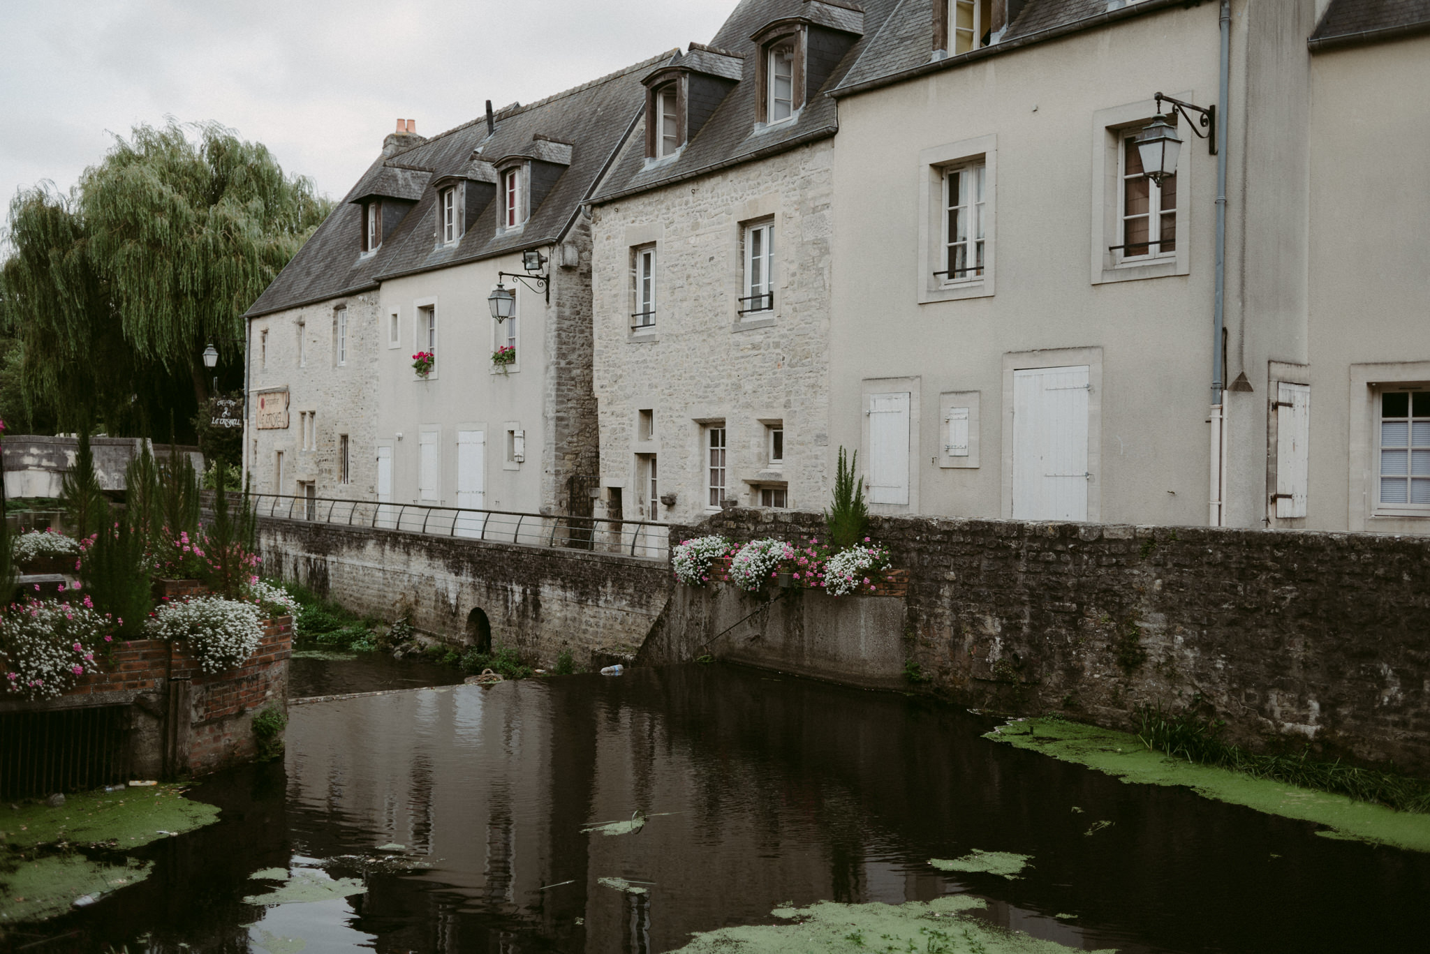
<path id="1" fill-rule="evenodd" d="M 671 541 L 822 532 L 817 513 L 725 511 Z M 865 638 L 897 641 L 955 701 L 1118 728 L 1141 705 L 1191 708 L 1256 748 L 1430 774 L 1430 539 L 919 518 L 871 532 L 911 582 L 901 625 Z"/>

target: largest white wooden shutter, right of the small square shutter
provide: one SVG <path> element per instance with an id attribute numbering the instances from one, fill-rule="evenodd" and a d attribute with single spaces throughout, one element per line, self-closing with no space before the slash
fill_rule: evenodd
<path id="1" fill-rule="evenodd" d="M 1085 521 L 1088 368 L 1012 373 L 1012 516 Z"/>

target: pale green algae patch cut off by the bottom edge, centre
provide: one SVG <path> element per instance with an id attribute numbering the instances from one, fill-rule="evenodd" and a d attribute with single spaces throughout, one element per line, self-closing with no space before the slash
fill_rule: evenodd
<path id="1" fill-rule="evenodd" d="M 696 934 L 672 954 L 827 954 L 842 951 L 918 951 L 919 954 L 1070 954 L 1071 948 L 1021 931 L 994 927 L 970 913 L 985 901 L 954 894 L 908 904 L 839 904 L 775 908 L 789 921 L 726 927 Z M 1115 954 L 1103 950 L 1095 954 Z"/>

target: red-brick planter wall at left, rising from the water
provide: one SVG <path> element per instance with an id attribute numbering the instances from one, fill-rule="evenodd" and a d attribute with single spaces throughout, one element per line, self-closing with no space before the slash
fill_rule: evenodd
<path id="1" fill-rule="evenodd" d="M 253 761 L 253 717 L 287 708 L 293 619 L 263 622 L 263 638 L 237 669 L 206 674 L 183 644 L 119 644 L 102 671 L 43 702 L 0 698 L 0 714 L 130 707 L 127 758 L 134 778 L 204 775 Z"/>

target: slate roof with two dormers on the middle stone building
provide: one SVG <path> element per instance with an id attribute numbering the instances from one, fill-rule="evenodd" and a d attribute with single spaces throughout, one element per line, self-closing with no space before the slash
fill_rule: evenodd
<path id="1" fill-rule="evenodd" d="M 925 0 L 927 3 L 928 0 Z M 1105 1 L 1105 0 L 1104 0 Z M 838 20 L 849 24 L 855 17 L 848 16 L 852 10 L 841 7 L 862 6 L 864 36 L 845 54 L 819 90 L 807 90 L 805 106 L 799 116 L 788 123 L 779 123 L 764 130 L 755 130 L 755 59 L 756 47 L 751 39 L 766 24 L 786 17 L 807 17 L 809 20 Z M 621 156 L 616 167 L 611 172 L 605 185 L 596 193 L 596 202 L 609 202 L 623 195 L 645 192 L 659 186 L 705 174 L 738 162 L 759 159 L 785 149 L 792 149 L 801 143 L 832 136 L 838 132 L 838 104 L 825 96 L 825 92 L 835 87 L 848 69 L 858 60 L 869 37 L 878 31 L 885 17 L 899 6 L 899 0 L 864 0 L 861 4 L 848 0 L 741 0 L 729 19 L 711 40 L 709 46 L 744 56 L 742 79 L 725 96 L 715 113 L 685 144 L 685 149 L 672 162 L 662 162 L 651 169 L 645 169 L 645 149 L 639 137 L 633 137 Z M 928 41 L 925 39 L 925 47 Z M 701 69 L 711 69 L 711 57 L 704 57 L 696 47 L 685 57 L 695 57 Z M 927 51 L 925 51 L 927 59 Z M 679 64 L 682 60 L 672 60 Z"/>

